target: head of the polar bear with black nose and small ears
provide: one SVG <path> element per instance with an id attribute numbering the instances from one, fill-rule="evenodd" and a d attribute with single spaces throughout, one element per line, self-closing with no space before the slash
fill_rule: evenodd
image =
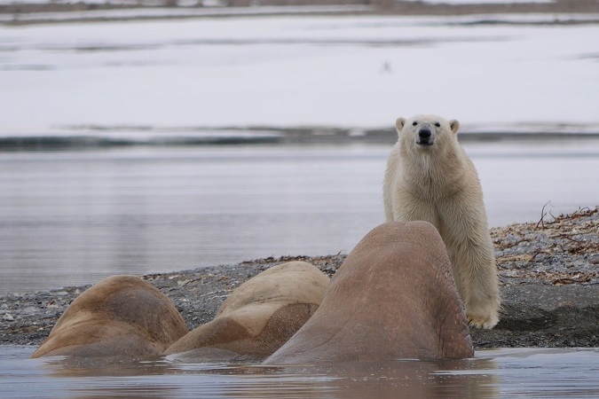
<path id="1" fill-rule="evenodd" d="M 437 115 L 415 115 L 407 120 L 398 118 L 395 126 L 402 145 L 424 150 L 447 141 L 455 142 L 460 122 L 446 121 Z"/>

